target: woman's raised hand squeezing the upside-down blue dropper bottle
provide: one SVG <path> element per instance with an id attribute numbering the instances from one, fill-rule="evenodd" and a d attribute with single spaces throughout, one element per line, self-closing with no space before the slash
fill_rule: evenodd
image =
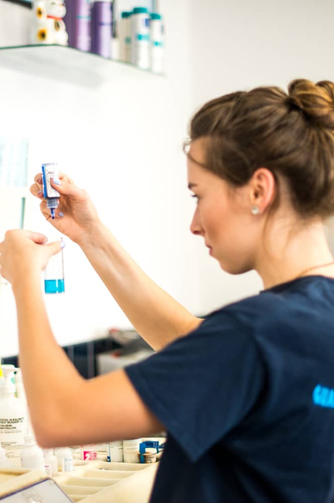
<path id="1" fill-rule="evenodd" d="M 59 179 L 60 185 L 51 182 L 52 187 L 60 194 L 55 218 L 51 218 L 45 200 L 40 204 L 41 212 L 61 234 L 65 234 L 72 241 L 80 244 L 86 234 L 93 230 L 93 226 L 100 222 L 100 219 L 85 190 L 76 187 L 64 173 L 59 173 Z M 30 192 L 39 199 L 43 199 L 42 174 L 36 175 L 34 180 L 35 183 L 30 187 Z"/>

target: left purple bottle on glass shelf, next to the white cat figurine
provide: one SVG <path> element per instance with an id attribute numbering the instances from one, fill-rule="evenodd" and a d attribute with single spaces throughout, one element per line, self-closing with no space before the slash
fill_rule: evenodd
<path id="1" fill-rule="evenodd" d="M 68 45 L 81 51 L 91 50 L 91 0 L 66 0 L 64 23 Z"/>

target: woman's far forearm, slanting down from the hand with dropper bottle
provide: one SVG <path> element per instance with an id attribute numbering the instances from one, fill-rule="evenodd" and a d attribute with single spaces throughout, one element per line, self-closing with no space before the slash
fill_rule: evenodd
<path id="1" fill-rule="evenodd" d="M 142 271 L 105 225 L 99 224 L 78 244 L 129 321 L 155 350 L 201 323 Z"/>

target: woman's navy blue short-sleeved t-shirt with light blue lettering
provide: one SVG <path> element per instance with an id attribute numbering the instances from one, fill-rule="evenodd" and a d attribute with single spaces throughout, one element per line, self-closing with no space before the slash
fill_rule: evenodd
<path id="1" fill-rule="evenodd" d="M 168 431 L 151 503 L 333 503 L 334 279 L 223 307 L 126 372 Z"/>

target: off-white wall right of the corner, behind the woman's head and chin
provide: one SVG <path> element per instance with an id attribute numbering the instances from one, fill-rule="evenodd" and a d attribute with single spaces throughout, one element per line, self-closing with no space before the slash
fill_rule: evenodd
<path id="1" fill-rule="evenodd" d="M 208 0 L 191 2 L 194 105 L 256 86 L 286 88 L 293 78 L 334 80 L 328 0 Z M 227 237 L 228 238 L 228 237 Z M 333 241 L 333 239 L 331 239 Z M 333 242 L 334 248 L 334 242 Z M 256 273 L 232 277 L 200 251 L 201 306 L 213 306 L 262 288 Z"/>

